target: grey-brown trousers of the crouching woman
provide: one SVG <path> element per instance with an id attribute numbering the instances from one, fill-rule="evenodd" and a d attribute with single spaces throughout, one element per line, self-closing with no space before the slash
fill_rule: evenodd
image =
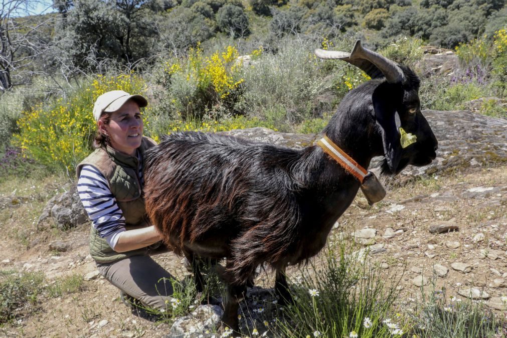
<path id="1" fill-rule="evenodd" d="M 149 255 L 97 263 L 97 269 L 107 281 L 138 299 L 142 305 L 154 309 L 170 308 L 173 289 L 169 279 L 174 277 Z"/>

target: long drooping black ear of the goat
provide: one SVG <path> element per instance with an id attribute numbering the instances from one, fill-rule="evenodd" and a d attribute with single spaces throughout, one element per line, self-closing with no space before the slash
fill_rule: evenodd
<path id="1" fill-rule="evenodd" d="M 399 84 L 380 84 L 372 96 L 375 118 L 380 126 L 384 156 L 391 173 L 396 172 L 401 157 L 402 144 L 400 142 L 400 116 L 397 107 L 403 102 L 403 89 Z"/>

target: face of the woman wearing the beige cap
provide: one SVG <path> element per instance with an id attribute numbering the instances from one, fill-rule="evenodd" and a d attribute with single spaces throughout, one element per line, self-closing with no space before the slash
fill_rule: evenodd
<path id="1" fill-rule="evenodd" d="M 120 109 L 112 112 L 108 124 L 103 124 L 100 120 L 98 122 L 99 130 L 109 136 L 110 145 L 131 156 L 135 155 L 136 149 L 141 145 L 142 127 L 141 112 L 134 100 L 128 100 Z"/>

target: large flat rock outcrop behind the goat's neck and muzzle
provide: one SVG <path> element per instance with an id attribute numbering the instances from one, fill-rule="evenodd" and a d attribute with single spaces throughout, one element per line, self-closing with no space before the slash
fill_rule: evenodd
<path id="1" fill-rule="evenodd" d="M 437 158 L 424 167 L 408 166 L 395 177 L 384 177 L 385 180 L 404 184 L 420 176 L 470 172 L 507 163 L 506 120 L 468 110 L 424 110 L 423 114 L 439 141 Z M 279 133 L 267 128 L 231 130 L 221 134 L 292 148 L 312 145 L 318 137 L 317 134 Z M 375 157 L 370 169 L 378 173 L 382 158 Z"/>

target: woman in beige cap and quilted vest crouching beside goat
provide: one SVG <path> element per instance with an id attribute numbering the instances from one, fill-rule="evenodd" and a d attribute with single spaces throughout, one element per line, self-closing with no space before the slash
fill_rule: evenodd
<path id="1" fill-rule="evenodd" d="M 77 167 L 78 192 L 92 221 L 90 253 L 99 272 L 147 307 L 166 309 L 172 276 L 149 254 L 160 235 L 144 209 L 143 154 L 156 143 L 142 136 L 141 95 L 114 90 L 95 101 L 95 151 Z"/>

